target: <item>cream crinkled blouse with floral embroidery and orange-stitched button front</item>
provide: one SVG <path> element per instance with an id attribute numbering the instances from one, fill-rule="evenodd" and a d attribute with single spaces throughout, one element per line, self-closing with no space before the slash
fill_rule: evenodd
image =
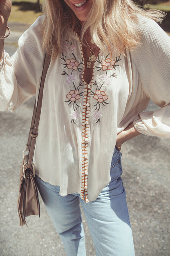
<path id="1" fill-rule="evenodd" d="M 126 57 L 100 52 L 92 81 L 83 79 L 78 35 L 63 44 L 45 80 L 36 140 L 36 174 L 60 186 L 60 195 L 78 192 L 85 202 L 110 182 L 116 135 L 131 122 L 146 135 L 170 138 L 170 37 L 154 21 L 135 16 L 141 46 Z M 38 95 L 45 53 L 43 16 L 20 37 L 19 48 L 0 63 L 0 111 L 14 111 Z M 160 109 L 145 112 L 152 99 Z M 31 117 L 30 117 L 31 118 Z"/>

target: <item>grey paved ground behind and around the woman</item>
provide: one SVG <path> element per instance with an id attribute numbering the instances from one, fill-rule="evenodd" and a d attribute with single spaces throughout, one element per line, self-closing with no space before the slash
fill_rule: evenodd
<path id="1" fill-rule="evenodd" d="M 5 49 L 10 55 L 27 28 L 9 24 Z M 27 143 L 34 99 L 15 113 L 0 113 L 0 255 L 65 256 L 63 244 L 40 201 L 41 217 L 30 217 L 21 228 L 17 213 L 19 170 Z M 151 102 L 148 109 L 157 107 Z M 138 136 L 122 148 L 123 180 L 127 193 L 136 256 L 170 256 L 170 140 Z M 83 215 L 87 256 L 95 250 Z"/>

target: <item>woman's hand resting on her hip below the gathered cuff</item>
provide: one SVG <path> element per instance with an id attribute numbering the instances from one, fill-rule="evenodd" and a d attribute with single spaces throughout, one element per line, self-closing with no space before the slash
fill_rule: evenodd
<path id="1" fill-rule="evenodd" d="M 141 133 L 134 128 L 133 123 L 129 124 L 123 131 L 117 134 L 116 148 L 120 151 L 123 143 L 138 136 L 139 134 Z"/>

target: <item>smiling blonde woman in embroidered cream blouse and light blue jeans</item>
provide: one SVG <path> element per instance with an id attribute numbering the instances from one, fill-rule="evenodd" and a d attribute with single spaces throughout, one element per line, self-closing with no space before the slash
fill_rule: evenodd
<path id="1" fill-rule="evenodd" d="M 81 202 L 96 255 L 133 256 L 120 150 L 141 133 L 170 138 L 170 39 L 155 22 L 163 15 L 129 0 L 46 0 L 9 59 L 10 4 L 0 3 L 0 110 L 38 95 L 53 48 L 33 162 L 65 251 L 86 255 Z M 150 99 L 160 109 L 144 112 Z"/>

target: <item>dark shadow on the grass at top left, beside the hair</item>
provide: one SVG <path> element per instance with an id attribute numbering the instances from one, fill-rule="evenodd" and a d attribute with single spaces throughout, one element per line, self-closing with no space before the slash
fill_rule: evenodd
<path id="1" fill-rule="evenodd" d="M 34 12 L 42 12 L 42 5 L 33 2 L 12 2 L 12 5 L 18 6 L 18 10 L 26 12 L 26 11 L 34 11 Z"/>

